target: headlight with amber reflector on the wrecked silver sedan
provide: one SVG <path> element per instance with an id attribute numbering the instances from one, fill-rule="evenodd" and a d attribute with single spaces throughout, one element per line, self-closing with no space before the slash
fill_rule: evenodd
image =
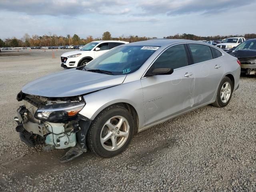
<path id="1" fill-rule="evenodd" d="M 39 108 L 35 113 L 35 118 L 45 121 L 66 120 L 76 116 L 84 107 L 84 102 L 70 102 L 53 104 Z"/>

